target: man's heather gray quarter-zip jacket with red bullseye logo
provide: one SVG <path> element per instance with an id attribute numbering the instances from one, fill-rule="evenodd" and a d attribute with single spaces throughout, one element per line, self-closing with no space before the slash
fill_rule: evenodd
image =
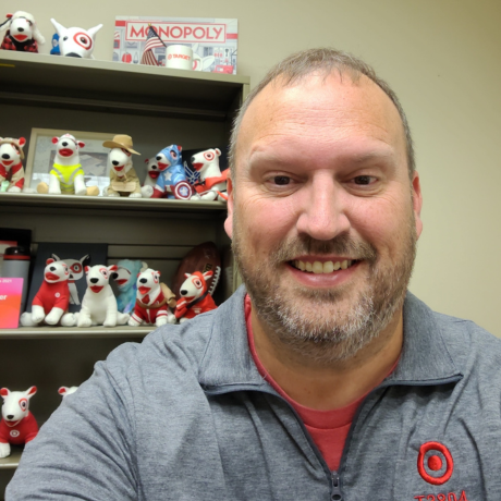
<path id="1" fill-rule="evenodd" d="M 26 445 L 22 500 L 501 500 L 501 342 L 407 294 L 395 370 L 330 472 L 248 350 L 245 290 L 126 343 Z"/>

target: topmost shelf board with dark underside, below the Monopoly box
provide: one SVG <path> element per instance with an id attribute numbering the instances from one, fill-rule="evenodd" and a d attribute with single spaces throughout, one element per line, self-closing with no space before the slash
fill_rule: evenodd
<path id="1" fill-rule="evenodd" d="M 0 51 L 0 102 L 225 121 L 249 77 Z"/>

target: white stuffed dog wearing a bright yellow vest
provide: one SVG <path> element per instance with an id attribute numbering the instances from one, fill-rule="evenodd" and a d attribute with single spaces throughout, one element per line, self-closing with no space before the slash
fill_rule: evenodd
<path id="1" fill-rule="evenodd" d="M 99 195 L 97 186 L 85 186 L 85 172 L 80 162 L 78 151 L 85 143 L 71 134 L 63 134 L 61 137 L 52 137 L 52 144 L 56 145 L 56 157 L 49 172 L 49 184 L 38 183 L 37 192 L 49 195 Z"/>

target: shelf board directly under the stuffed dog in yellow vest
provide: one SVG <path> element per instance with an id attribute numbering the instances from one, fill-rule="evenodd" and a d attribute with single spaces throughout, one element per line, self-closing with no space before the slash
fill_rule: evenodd
<path id="1" fill-rule="evenodd" d="M 152 212 L 225 212 L 224 201 L 175 200 L 168 198 L 129 198 L 76 195 L 0 193 L 0 206 L 39 208 L 130 209 Z"/>

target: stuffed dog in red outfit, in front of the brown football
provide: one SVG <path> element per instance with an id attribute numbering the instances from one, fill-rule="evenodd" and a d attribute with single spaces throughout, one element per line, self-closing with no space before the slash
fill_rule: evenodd
<path id="1" fill-rule="evenodd" d="M 196 317 L 211 309 L 216 309 L 216 303 L 209 294 L 207 279 L 212 277 L 212 271 L 195 271 L 185 273 L 186 280 L 181 285 L 180 294 L 175 306 L 175 318 L 182 323 L 190 318 Z"/>

